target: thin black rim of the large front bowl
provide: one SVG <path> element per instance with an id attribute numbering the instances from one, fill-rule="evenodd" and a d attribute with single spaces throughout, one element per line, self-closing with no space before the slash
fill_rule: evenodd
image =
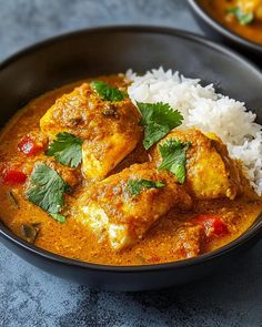
<path id="1" fill-rule="evenodd" d="M 155 33 L 155 34 L 169 34 L 174 35 L 182 39 L 188 39 L 193 42 L 201 43 L 203 47 L 211 48 L 215 51 L 219 51 L 225 55 L 230 55 L 232 59 L 236 59 L 238 61 L 242 62 L 245 67 L 248 67 L 252 73 L 258 74 L 260 79 L 262 79 L 262 71 L 258 68 L 254 63 L 250 62 L 243 55 L 232 51 L 228 47 L 218 44 L 209 39 L 198 35 L 192 32 L 183 31 L 175 28 L 163 28 L 158 25 L 112 25 L 112 27 L 94 27 L 89 29 L 81 29 L 69 33 L 58 34 L 50 39 L 43 40 L 41 42 L 34 43 L 32 45 L 27 47 L 23 50 L 10 55 L 4 61 L 0 62 L 0 73 L 4 70 L 6 67 L 12 64 L 12 62 L 19 60 L 20 58 L 33 53 L 37 50 L 41 50 L 47 45 L 51 45 L 58 41 L 62 41 L 67 38 L 72 38 L 80 34 L 92 34 L 92 33 L 104 33 L 104 32 L 143 32 L 143 33 Z M 105 264 L 95 264 L 95 263 L 88 263 L 81 262 L 78 259 L 68 258 L 43 248 L 40 248 L 33 244 L 30 244 L 22 238 L 18 237 L 13 234 L 8 227 L 4 226 L 3 223 L 0 221 L 0 237 L 2 236 L 10 243 L 14 244 L 17 247 L 21 247 L 29 253 L 37 255 L 39 257 L 46 258 L 50 262 L 56 262 L 58 264 L 67 265 L 67 266 L 75 266 L 80 268 L 85 268 L 90 270 L 100 270 L 100 272 L 111 272 L 111 273 L 141 273 L 141 272 L 157 272 L 157 270 L 165 270 L 165 269 L 179 269 L 185 266 L 199 265 L 204 262 L 210 262 L 218 257 L 229 254 L 230 252 L 243 246 L 245 243 L 258 236 L 262 233 L 262 214 L 259 215 L 255 223 L 245 231 L 242 235 L 240 235 L 234 241 L 230 242 L 229 244 L 212 251 L 210 253 L 193 257 L 187 258 L 179 262 L 171 262 L 171 263 L 163 263 L 163 264 L 152 264 L 152 265 L 139 265 L 139 266 L 113 266 L 113 265 L 105 265 Z"/>

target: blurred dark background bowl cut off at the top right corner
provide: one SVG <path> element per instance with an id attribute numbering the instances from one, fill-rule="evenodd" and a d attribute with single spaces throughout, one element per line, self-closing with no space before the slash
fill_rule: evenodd
<path id="1" fill-rule="evenodd" d="M 188 0 L 188 2 L 196 21 L 208 35 L 216 41 L 223 41 L 226 44 L 236 48 L 243 54 L 246 54 L 250 59 L 254 60 L 258 64 L 262 64 L 262 45 L 240 37 L 225 25 L 218 22 L 205 11 L 198 0 Z"/>

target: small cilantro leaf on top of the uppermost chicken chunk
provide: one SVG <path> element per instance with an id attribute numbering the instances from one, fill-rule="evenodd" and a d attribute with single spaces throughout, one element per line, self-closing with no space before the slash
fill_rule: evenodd
<path id="1" fill-rule="evenodd" d="M 104 101 L 118 102 L 123 101 L 128 96 L 127 92 L 122 92 L 102 81 L 93 81 L 90 85 Z"/>

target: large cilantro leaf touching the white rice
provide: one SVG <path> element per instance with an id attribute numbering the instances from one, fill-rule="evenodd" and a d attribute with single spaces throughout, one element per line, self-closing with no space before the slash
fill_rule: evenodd
<path id="1" fill-rule="evenodd" d="M 168 103 L 137 102 L 142 114 L 140 124 L 144 125 L 143 146 L 149 150 L 171 130 L 182 124 L 183 116 L 178 110 L 173 110 Z"/>

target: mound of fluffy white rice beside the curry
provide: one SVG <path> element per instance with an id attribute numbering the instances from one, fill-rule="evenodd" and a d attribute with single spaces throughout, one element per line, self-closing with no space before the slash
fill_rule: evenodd
<path id="1" fill-rule="evenodd" d="M 251 185 L 262 195 L 262 126 L 243 102 L 215 93 L 212 84 L 187 79 L 162 68 L 138 75 L 127 72 L 132 82 L 128 89 L 133 102 L 165 102 L 179 110 L 182 126 L 214 132 L 228 145 L 231 157 L 241 160 Z"/>

